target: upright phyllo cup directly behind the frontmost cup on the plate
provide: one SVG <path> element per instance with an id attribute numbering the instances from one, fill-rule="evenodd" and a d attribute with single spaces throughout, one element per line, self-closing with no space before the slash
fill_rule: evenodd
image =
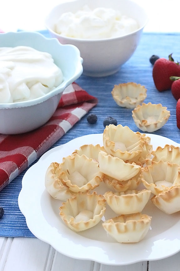
<path id="1" fill-rule="evenodd" d="M 103 195 L 107 204 L 116 214 L 135 214 L 141 213 L 146 206 L 151 191 L 127 190 L 125 192 L 105 192 Z"/>

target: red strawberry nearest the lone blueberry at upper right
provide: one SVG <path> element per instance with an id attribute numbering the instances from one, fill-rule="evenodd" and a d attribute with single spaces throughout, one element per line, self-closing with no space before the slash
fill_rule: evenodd
<path id="1" fill-rule="evenodd" d="M 154 84 L 159 91 L 171 89 L 170 76 L 180 76 L 180 65 L 175 63 L 172 54 L 169 59 L 159 58 L 156 60 L 152 70 Z"/>

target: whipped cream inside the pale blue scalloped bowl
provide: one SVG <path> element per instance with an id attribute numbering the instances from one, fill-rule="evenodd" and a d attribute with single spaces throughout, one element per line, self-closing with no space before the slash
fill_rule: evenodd
<path id="1" fill-rule="evenodd" d="M 29 46 L 0 47 L 0 103 L 34 100 L 62 81 L 49 53 Z"/>

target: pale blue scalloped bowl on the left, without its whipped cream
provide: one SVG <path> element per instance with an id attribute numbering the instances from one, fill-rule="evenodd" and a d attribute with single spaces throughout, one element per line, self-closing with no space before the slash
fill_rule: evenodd
<path id="1" fill-rule="evenodd" d="M 48 94 L 34 100 L 0 103 L 0 133 L 17 134 L 32 131 L 54 114 L 64 89 L 83 71 L 80 51 L 72 45 L 62 45 L 57 39 L 47 39 L 36 32 L 0 34 L 1 47 L 30 46 L 52 55 L 62 70 L 63 82 Z"/>

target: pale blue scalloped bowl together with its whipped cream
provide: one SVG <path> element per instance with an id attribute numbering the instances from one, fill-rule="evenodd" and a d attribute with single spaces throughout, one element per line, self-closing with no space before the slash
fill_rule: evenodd
<path id="1" fill-rule="evenodd" d="M 64 89 L 82 74 L 77 47 L 36 32 L 0 34 L 0 133 L 18 134 L 45 124 Z"/>

